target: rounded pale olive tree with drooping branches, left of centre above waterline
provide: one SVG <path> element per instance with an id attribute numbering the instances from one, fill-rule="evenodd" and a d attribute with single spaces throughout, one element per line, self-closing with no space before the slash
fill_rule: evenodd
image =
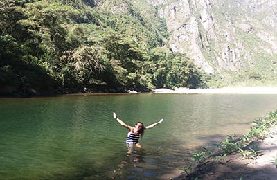
<path id="1" fill-rule="evenodd" d="M 101 51 L 101 48 L 95 46 L 80 46 L 60 57 L 60 68 L 55 74 L 59 75 L 63 87 L 104 83 L 100 80 L 100 75 L 107 68 L 107 58 Z"/>

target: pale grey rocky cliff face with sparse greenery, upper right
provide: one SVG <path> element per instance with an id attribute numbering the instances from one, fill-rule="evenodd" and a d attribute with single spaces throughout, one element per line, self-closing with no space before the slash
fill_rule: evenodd
<path id="1" fill-rule="evenodd" d="M 147 1 L 166 19 L 172 51 L 206 73 L 277 72 L 277 1 Z"/>

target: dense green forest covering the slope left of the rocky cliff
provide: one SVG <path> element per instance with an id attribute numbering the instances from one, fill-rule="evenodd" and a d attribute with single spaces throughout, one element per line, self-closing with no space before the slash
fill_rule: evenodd
<path id="1" fill-rule="evenodd" d="M 0 96 L 203 87 L 156 13 L 129 1 L 2 0 Z"/>

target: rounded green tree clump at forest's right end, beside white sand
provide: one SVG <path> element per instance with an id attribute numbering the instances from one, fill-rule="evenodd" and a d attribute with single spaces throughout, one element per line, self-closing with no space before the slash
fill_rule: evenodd
<path id="1" fill-rule="evenodd" d="M 202 73 L 186 57 L 173 55 L 163 47 L 150 51 L 149 58 L 156 62 L 154 66 L 148 66 L 154 87 L 196 88 L 202 85 Z"/>

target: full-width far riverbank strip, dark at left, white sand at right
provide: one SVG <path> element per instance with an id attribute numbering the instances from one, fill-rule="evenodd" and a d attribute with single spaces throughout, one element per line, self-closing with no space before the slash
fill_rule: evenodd
<path id="1" fill-rule="evenodd" d="M 140 94 L 140 93 L 177 93 L 177 94 L 277 94 L 277 87 L 223 87 L 223 88 L 209 88 L 209 89 L 188 89 L 188 88 L 176 88 L 176 89 L 139 89 L 139 90 L 126 90 L 126 89 L 109 89 L 109 91 L 93 91 L 91 89 L 83 89 L 82 91 L 71 91 L 69 89 L 58 90 L 55 93 L 42 93 L 33 89 L 28 89 L 26 93 L 0 93 L 2 98 L 33 98 L 33 97 L 49 97 L 49 96 L 63 96 L 63 95 L 75 95 L 75 94 Z"/>

